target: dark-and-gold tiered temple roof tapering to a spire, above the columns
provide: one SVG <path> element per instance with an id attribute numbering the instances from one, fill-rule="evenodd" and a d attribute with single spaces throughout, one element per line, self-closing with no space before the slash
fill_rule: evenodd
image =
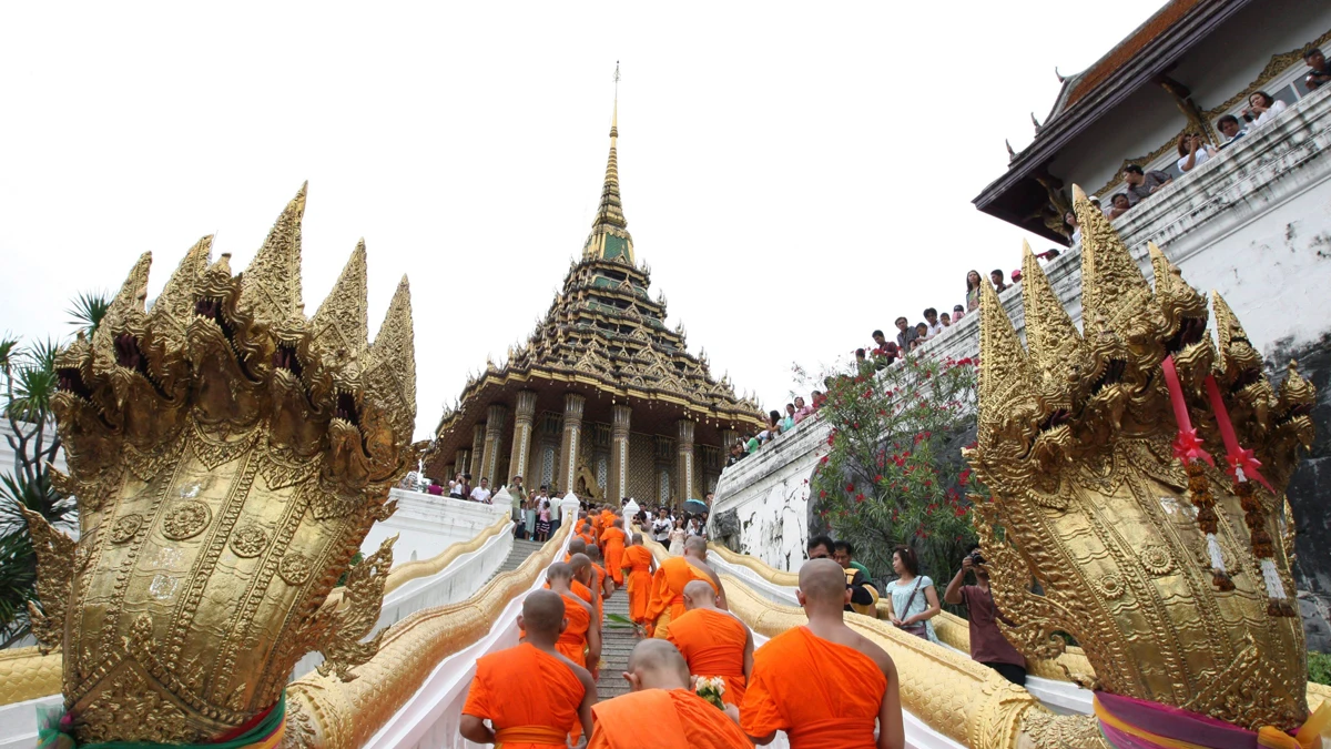
<path id="1" fill-rule="evenodd" d="M 630 405 L 634 432 L 673 434 L 679 420 L 693 421 L 699 445 L 721 445 L 723 430 L 761 422 L 755 400 L 736 394 L 728 377 L 712 376 L 705 352 L 688 352 L 683 325 L 666 324 L 666 296 L 652 299 L 651 269 L 634 256 L 620 203 L 618 139 L 616 107 L 600 205 L 582 257 L 526 344 L 469 378 L 457 408 L 439 421 L 429 473 L 442 473 L 455 450 L 474 444 L 473 429 L 490 404 L 512 401 L 523 389 L 536 392 L 538 412 L 560 412 L 566 393 L 580 393 L 587 421 L 610 422 L 615 404 Z"/>

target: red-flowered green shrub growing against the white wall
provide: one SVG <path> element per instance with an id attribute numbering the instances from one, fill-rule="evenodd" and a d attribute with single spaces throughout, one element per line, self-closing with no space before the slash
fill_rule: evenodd
<path id="1" fill-rule="evenodd" d="M 976 538 L 961 448 L 974 426 L 977 364 L 917 355 L 831 377 L 821 414 L 832 430 L 812 498 L 876 577 L 890 574 L 894 546 L 909 545 L 922 572 L 946 582 Z"/>

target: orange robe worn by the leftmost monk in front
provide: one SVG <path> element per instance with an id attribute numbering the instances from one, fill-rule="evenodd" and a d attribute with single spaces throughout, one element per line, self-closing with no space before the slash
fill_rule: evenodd
<path id="1" fill-rule="evenodd" d="M 462 713 L 490 720 L 504 749 L 563 748 L 586 693 L 568 664 L 523 642 L 476 660 Z"/>

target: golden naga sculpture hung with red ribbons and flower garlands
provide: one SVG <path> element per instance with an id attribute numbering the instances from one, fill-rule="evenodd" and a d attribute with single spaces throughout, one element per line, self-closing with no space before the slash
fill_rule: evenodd
<path id="1" fill-rule="evenodd" d="M 1074 204 L 1085 335 L 1029 248 L 1029 352 L 993 289 L 981 301 L 966 457 L 992 493 L 976 524 L 994 600 L 1018 622 L 1005 634 L 1030 658 L 1071 636 L 1094 668 L 1071 676 L 1102 694 L 1296 729 L 1307 653 L 1291 548 L 1272 538 L 1290 538 L 1284 488 L 1312 437 L 1312 386 L 1291 363 L 1272 390 L 1219 296 L 1217 349 L 1206 297 L 1163 253 L 1150 247 L 1153 291 L 1079 189 Z"/>

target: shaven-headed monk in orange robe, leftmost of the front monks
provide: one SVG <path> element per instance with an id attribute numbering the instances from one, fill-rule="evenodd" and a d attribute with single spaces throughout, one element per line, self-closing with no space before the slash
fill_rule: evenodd
<path id="1" fill-rule="evenodd" d="M 522 602 L 518 626 L 527 640 L 476 660 L 458 726 L 463 738 L 504 749 L 562 749 L 575 725 L 591 730 L 596 685 L 555 645 L 564 610 L 554 590 L 534 590 Z"/>

